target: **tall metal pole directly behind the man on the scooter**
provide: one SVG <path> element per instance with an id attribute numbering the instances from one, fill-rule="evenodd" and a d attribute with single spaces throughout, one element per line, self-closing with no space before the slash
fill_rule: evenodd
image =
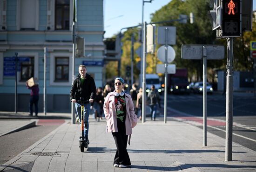
<path id="1" fill-rule="evenodd" d="M 75 58 L 75 22 L 73 22 L 72 25 L 72 38 L 73 38 L 73 57 L 72 57 L 72 83 L 74 82 L 74 58 Z M 74 108 L 74 103 L 71 103 L 71 121 L 72 124 L 75 123 L 75 108 Z"/>

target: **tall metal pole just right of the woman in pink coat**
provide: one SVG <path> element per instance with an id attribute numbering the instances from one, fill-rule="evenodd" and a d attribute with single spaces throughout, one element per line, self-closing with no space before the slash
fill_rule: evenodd
<path id="1" fill-rule="evenodd" d="M 146 97 L 146 25 L 147 25 L 147 22 L 144 22 L 143 23 L 143 29 L 144 29 L 144 32 L 143 32 L 143 70 L 142 70 L 142 73 L 143 73 L 143 80 L 142 80 L 142 123 L 146 122 L 146 100 L 147 100 L 147 97 Z"/>

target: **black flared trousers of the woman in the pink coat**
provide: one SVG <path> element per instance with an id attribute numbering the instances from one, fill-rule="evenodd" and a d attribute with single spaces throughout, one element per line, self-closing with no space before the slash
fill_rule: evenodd
<path id="1" fill-rule="evenodd" d="M 115 139 L 115 145 L 116 145 L 114 164 L 130 166 L 131 161 L 126 149 L 128 135 L 125 134 L 125 128 L 124 130 L 121 130 L 121 131 L 120 131 L 120 128 L 118 128 L 118 131 L 119 132 L 112 133 Z"/>

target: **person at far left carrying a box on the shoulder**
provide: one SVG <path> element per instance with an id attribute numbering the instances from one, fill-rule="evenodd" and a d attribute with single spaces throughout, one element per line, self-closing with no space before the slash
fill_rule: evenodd
<path id="1" fill-rule="evenodd" d="M 39 87 L 38 83 L 35 83 L 34 86 L 29 87 L 26 82 L 27 89 L 31 89 L 30 91 L 30 99 L 29 99 L 29 116 L 33 116 L 33 105 L 35 116 L 38 114 L 38 100 L 39 100 Z"/>

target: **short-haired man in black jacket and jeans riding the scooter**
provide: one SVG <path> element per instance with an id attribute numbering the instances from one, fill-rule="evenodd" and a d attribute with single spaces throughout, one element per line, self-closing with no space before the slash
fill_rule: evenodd
<path id="1" fill-rule="evenodd" d="M 85 141 L 88 142 L 88 131 L 89 131 L 89 111 L 90 111 L 90 103 L 94 102 L 96 96 L 96 86 L 94 82 L 94 78 L 87 73 L 87 69 L 85 65 L 80 65 L 78 67 L 79 75 L 74 79 L 72 83 L 72 88 L 70 90 L 70 101 L 75 103 L 76 113 L 79 117 L 80 125 L 81 125 L 81 102 L 80 98 L 82 97 L 85 101 L 84 104 L 84 134 Z"/>

